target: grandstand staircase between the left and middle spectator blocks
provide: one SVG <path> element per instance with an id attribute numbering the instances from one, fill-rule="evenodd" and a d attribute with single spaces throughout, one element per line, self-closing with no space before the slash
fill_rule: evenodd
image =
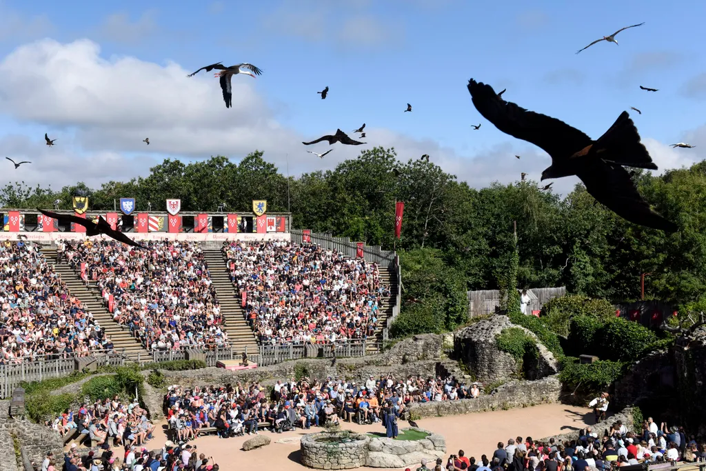
<path id="1" fill-rule="evenodd" d="M 131 335 L 130 330 L 121 327 L 113 321 L 113 317 L 108 312 L 107 306 L 105 306 L 96 287 L 86 287 L 80 279 L 80 274 L 73 271 L 66 262 L 59 262 L 56 256 L 56 249 L 45 247 L 42 249 L 42 254 L 44 254 L 50 264 L 55 266 L 56 273 L 61 275 L 61 280 L 66 283 L 71 294 L 78 297 L 84 306 L 92 312 L 93 318 L 100 324 L 100 327 L 110 340 L 113 341 L 116 352 L 124 352 L 126 357 L 133 360 L 137 360 L 138 355 L 140 359 L 150 358 L 150 353 L 143 348 L 137 338 Z"/>

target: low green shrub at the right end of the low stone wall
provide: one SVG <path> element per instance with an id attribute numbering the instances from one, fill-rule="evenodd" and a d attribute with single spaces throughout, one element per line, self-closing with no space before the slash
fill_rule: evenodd
<path id="1" fill-rule="evenodd" d="M 594 393 L 604 390 L 623 376 L 628 366 L 629 362 L 597 360 L 593 363 L 580 363 L 578 358 L 563 357 L 559 381 L 572 390 Z"/>

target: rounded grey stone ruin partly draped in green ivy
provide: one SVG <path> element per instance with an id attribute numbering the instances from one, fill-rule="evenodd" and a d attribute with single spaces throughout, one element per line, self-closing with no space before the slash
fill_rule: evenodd
<path id="1" fill-rule="evenodd" d="M 478 381 L 493 383 L 517 377 L 517 361 L 496 345 L 496 337 L 506 328 L 520 328 L 534 338 L 539 349 L 537 365 L 529 371 L 530 378 L 539 379 L 556 374 L 554 355 L 546 350 L 537 336 L 524 327 L 515 326 L 507 316 L 495 315 L 458 331 L 454 336 L 455 356 L 463 362 Z"/>

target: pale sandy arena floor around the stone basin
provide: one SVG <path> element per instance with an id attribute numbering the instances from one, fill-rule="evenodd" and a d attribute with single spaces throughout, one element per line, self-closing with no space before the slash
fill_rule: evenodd
<path id="1" fill-rule="evenodd" d="M 508 439 L 514 439 L 518 435 L 523 438 L 532 436 L 534 439 L 541 439 L 544 436 L 578 430 L 592 423 L 593 415 L 589 409 L 563 404 L 546 404 L 495 412 L 478 412 L 453 417 L 431 417 L 417 420 L 419 427 L 434 431 L 445 437 L 447 454 L 450 455 L 463 450 L 467 456 L 474 456 L 477 460 L 480 460 L 481 455 L 484 453 L 492 455 L 498 441 L 507 443 Z M 162 424 L 163 422 L 160 423 L 160 426 Z M 400 428 L 406 426 L 406 422 L 400 421 Z M 360 426 L 354 423 L 342 423 L 342 429 L 384 431 L 380 424 Z M 321 429 L 313 427 L 311 430 L 318 431 Z M 190 443 L 192 446 L 195 445 L 197 447 L 199 454 L 204 453 L 206 457 L 213 457 L 215 463 L 218 463 L 222 470 L 308 469 L 299 463 L 298 439 L 304 434 L 301 429 L 283 434 L 261 431 L 261 434 L 270 436 L 273 442 L 269 446 L 252 451 L 241 450 L 242 443 L 251 438 L 249 435 L 230 439 L 219 439 L 215 435 L 200 436 Z M 283 439 L 290 443 L 277 443 L 277 441 Z M 157 431 L 155 439 L 147 443 L 147 448 L 149 450 L 159 448 L 164 445 L 164 441 L 166 439 L 163 431 Z M 419 467 L 419 465 L 412 467 L 412 470 L 416 469 L 416 467 Z"/>

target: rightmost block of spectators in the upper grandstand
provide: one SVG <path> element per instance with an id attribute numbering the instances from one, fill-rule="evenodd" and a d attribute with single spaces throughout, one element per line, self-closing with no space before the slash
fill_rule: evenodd
<path id="1" fill-rule="evenodd" d="M 390 296 L 375 263 L 316 244 L 224 242 L 222 251 L 264 345 L 363 340 Z"/>

